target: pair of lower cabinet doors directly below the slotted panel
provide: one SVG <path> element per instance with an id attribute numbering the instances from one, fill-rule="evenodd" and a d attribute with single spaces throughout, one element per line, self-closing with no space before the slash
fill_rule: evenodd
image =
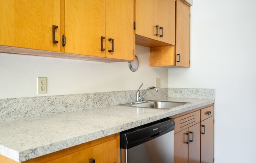
<path id="1" fill-rule="evenodd" d="M 174 134 L 174 163 L 200 163 L 200 123 Z"/>

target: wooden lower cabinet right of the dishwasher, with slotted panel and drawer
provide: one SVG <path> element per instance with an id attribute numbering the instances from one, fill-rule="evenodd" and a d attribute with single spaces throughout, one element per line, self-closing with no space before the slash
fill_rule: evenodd
<path id="1" fill-rule="evenodd" d="M 175 121 L 174 163 L 213 163 L 213 104 L 177 114 L 170 118 Z M 191 142 L 192 140 L 193 142 Z"/>

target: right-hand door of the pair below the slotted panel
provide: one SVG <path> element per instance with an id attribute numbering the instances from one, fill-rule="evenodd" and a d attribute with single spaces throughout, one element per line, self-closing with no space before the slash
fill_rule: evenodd
<path id="1" fill-rule="evenodd" d="M 200 123 L 189 127 L 188 133 L 189 140 L 193 140 L 188 145 L 188 163 L 200 163 Z"/>

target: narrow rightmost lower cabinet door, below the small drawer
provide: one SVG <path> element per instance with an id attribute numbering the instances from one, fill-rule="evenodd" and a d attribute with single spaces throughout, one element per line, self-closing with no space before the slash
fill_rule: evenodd
<path id="1" fill-rule="evenodd" d="M 201 121 L 201 162 L 213 163 L 214 159 L 214 117 Z M 205 133 L 205 134 L 203 134 Z"/>

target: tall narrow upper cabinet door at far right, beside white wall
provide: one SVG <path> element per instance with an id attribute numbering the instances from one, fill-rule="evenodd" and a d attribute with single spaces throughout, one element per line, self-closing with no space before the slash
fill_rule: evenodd
<path id="1" fill-rule="evenodd" d="M 179 55 L 178 55 L 179 54 Z M 180 61 L 180 62 L 177 62 Z M 176 65 L 190 66 L 190 7 L 176 1 Z"/>

